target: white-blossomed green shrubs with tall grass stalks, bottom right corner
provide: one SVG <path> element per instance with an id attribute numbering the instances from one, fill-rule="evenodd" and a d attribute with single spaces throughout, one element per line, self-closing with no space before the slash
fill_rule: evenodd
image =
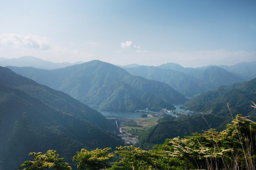
<path id="1" fill-rule="evenodd" d="M 214 129 L 202 134 L 166 139 L 155 148 L 166 157 L 176 157 L 187 163 L 189 169 L 222 169 L 236 165 L 251 169 L 255 152 L 256 124 L 237 115 L 227 129 L 216 132 Z M 251 165 L 250 165 L 251 163 Z"/>

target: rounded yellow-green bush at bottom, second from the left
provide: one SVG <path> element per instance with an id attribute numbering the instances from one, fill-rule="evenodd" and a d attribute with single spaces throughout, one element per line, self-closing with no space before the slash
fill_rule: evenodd
<path id="1" fill-rule="evenodd" d="M 111 148 L 99 149 L 88 151 L 81 149 L 80 152 L 73 157 L 73 161 L 76 163 L 78 170 L 100 170 L 106 167 L 110 167 L 109 159 L 114 157 L 113 153 L 108 151 Z"/>

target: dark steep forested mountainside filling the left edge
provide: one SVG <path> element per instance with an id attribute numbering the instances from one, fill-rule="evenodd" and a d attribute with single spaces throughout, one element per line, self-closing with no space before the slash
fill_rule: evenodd
<path id="1" fill-rule="evenodd" d="M 15 169 L 29 152 L 53 149 L 72 162 L 81 148 L 123 144 L 99 112 L 6 67 L 0 67 L 0 96 L 0 169 Z"/>

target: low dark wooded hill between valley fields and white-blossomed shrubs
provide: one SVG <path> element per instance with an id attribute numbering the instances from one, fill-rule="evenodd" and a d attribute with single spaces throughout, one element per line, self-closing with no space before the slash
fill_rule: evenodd
<path id="1" fill-rule="evenodd" d="M 212 115 L 196 115 L 173 117 L 166 115 L 159 119 L 159 123 L 149 128 L 139 136 L 136 146 L 151 148 L 155 144 L 161 144 L 167 138 L 191 135 L 192 132 L 202 132 L 220 125 L 222 119 Z"/>

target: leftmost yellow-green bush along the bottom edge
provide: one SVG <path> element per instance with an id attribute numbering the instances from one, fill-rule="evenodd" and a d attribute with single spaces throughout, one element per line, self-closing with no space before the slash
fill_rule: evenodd
<path id="1" fill-rule="evenodd" d="M 64 158 L 59 158 L 54 150 L 48 150 L 46 154 L 42 152 L 31 152 L 29 156 L 34 157 L 33 161 L 25 161 L 20 165 L 23 170 L 72 170 Z"/>

